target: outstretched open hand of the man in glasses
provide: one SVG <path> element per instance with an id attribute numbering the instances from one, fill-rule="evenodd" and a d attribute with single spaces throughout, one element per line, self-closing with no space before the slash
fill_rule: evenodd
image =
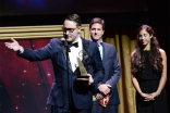
<path id="1" fill-rule="evenodd" d="M 5 47 L 8 47 L 9 49 L 12 49 L 13 51 L 20 51 L 21 53 L 23 53 L 24 51 L 23 47 L 21 47 L 19 42 L 14 40 L 13 38 L 11 38 L 11 40 L 13 42 L 4 42 Z"/>

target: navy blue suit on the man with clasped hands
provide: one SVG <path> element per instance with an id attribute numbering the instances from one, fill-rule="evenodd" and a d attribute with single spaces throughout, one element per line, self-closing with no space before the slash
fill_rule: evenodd
<path id="1" fill-rule="evenodd" d="M 110 85 L 111 92 L 109 93 L 110 99 L 106 108 L 99 105 L 98 102 L 94 102 L 93 113 L 116 113 L 113 111 L 114 109 L 117 109 L 118 104 L 120 104 L 117 83 L 120 79 L 121 66 L 119 63 L 119 59 L 118 59 L 118 54 L 117 54 L 117 50 L 114 46 L 102 42 L 102 47 L 104 47 L 102 65 L 105 68 L 105 78 L 102 79 L 100 84 Z M 109 108 L 109 105 L 112 105 L 116 108 L 111 109 L 112 106 Z M 100 110 L 99 108 L 105 109 L 105 110 Z M 107 110 L 107 108 L 109 110 Z M 105 111 L 105 112 L 99 112 L 99 111 Z"/>

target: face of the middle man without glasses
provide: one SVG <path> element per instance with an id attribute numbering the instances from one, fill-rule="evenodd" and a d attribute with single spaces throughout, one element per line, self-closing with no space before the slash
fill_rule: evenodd
<path id="1" fill-rule="evenodd" d="M 104 35 L 105 30 L 102 30 L 102 25 L 95 23 L 92 25 L 89 29 L 89 34 L 93 40 L 99 41 Z"/>

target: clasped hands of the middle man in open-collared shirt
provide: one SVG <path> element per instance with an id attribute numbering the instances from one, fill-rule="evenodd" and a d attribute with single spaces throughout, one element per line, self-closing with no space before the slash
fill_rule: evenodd
<path id="1" fill-rule="evenodd" d="M 110 93 L 110 87 L 111 87 L 110 85 L 101 84 L 98 89 L 104 95 L 108 95 L 108 93 Z"/>

